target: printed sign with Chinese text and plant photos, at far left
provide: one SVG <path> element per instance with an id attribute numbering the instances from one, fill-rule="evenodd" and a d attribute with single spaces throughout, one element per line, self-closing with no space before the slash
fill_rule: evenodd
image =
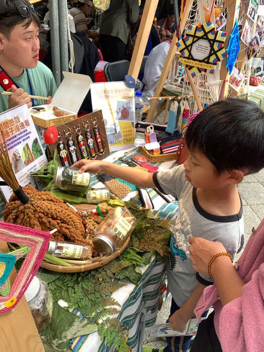
<path id="1" fill-rule="evenodd" d="M 36 187 L 30 172 L 39 170 L 48 160 L 28 106 L 23 104 L 0 114 L 1 130 L 5 133 L 8 154 L 20 186 L 31 183 Z M 1 186 L 0 189 L 8 201 L 13 191 L 8 186 Z"/>

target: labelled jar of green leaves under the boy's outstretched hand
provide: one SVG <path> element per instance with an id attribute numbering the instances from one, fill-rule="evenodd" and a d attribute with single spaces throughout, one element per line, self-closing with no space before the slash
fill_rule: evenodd
<path id="1" fill-rule="evenodd" d="M 86 192 L 89 190 L 91 174 L 89 172 L 79 173 L 75 167 L 59 166 L 55 170 L 53 180 L 55 186 L 61 190 Z"/>

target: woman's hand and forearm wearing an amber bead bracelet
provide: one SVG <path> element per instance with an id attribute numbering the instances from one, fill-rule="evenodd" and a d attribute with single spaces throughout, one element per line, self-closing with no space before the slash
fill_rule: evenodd
<path id="1" fill-rule="evenodd" d="M 189 247 L 194 269 L 203 274 L 208 274 L 208 265 L 212 257 L 226 249 L 220 242 L 211 242 L 204 238 L 191 237 Z M 211 266 L 211 274 L 214 278 L 222 305 L 235 298 L 241 297 L 243 280 L 237 274 L 228 256 L 217 257 Z"/>

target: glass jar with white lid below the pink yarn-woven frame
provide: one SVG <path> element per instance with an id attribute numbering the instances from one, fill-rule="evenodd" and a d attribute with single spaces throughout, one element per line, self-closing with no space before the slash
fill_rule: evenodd
<path id="1" fill-rule="evenodd" d="M 53 308 L 47 283 L 34 276 L 25 292 L 25 297 L 38 332 L 41 333 L 51 322 Z"/>

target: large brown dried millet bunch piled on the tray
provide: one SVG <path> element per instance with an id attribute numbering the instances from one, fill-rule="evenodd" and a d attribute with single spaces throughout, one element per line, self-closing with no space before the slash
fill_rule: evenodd
<path id="1" fill-rule="evenodd" d="M 4 210 L 5 222 L 42 231 L 56 228 L 58 231 L 51 239 L 87 245 L 80 217 L 61 199 L 48 192 L 37 191 L 32 186 L 23 187 L 23 191 L 30 198 L 29 203 L 23 205 L 13 194 Z"/>

